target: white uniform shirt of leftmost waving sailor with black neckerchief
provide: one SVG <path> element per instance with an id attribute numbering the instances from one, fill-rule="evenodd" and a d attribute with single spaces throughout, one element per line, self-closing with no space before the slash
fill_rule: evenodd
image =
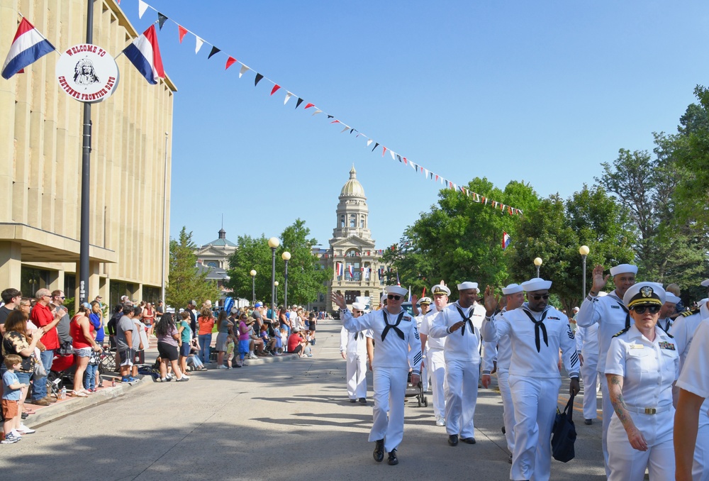
<path id="1" fill-rule="evenodd" d="M 386 318 L 391 327 L 388 329 L 384 340 L 382 340 L 381 335 L 387 326 L 387 322 L 384 321 L 384 311 L 386 311 Z M 403 339 L 398 336 L 396 329 L 393 327 L 401 312 L 403 312 L 403 316 L 401 316 L 401 322 L 396 328 L 403 333 Z M 416 321 L 411 314 L 406 311 L 401 312 L 399 314 L 390 314 L 385 307 L 384 309 L 379 309 L 379 311 L 362 314 L 362 316 L 357 318 L 352 317 L 352 313 L 349 310 L 340 311 L 340 314 L 342 326 L 347 331 L 372 330 L 372 338 L 376 343 L 372 367 L 406 367 L 408 365 L 415 374 L 420 374 L 422 360 L 421 338 L 418 336 Z"/>

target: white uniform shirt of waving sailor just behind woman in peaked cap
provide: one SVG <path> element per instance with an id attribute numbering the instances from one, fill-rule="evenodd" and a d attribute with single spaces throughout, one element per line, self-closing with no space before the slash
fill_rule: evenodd
<path id="1" fill-rule="evenodd" d="M 598 324 L 598 372 L 605 372 L 605 358 L 610 348 L 610 341 L 615 334 L 625 329 L 627 315 L 623 300 L 618 298 L 615 291 L 604 297 L 588 297 L 581 304 L 579 314 L 576 314 L 576 325 L 589 327 Z"/>

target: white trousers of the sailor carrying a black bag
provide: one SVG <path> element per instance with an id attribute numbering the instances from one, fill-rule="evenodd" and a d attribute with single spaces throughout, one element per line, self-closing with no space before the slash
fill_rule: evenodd
<path id="1" fill-rule="evenodd" d="M 548 481 L 552 468 L 552 426 L 557 415 L 560 379 L 510 375 L 515 406 L 512 480 Z"/>

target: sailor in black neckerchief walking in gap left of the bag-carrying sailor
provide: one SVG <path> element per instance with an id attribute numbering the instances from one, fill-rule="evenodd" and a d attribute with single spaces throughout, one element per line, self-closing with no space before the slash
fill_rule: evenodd
<path id="1" fill-rule="evenodd" d="M 459 299 L 433 319 L 430 337 L 446 338 L 444 348 L 446 382 L 445 430 L 448 444 L 458 439 L 475 444 L 474 414 L 478 400 L 481 335 L 485 309 L 477 303 L 477 282 L 458 284 Z"/>

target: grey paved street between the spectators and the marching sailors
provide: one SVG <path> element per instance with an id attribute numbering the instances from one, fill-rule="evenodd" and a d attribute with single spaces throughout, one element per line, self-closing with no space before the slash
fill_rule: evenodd
<path id="1" fill-rule="evenodd" d="M 38 480 L 509 479 L 501 400 L 485 389 L 476 445 L 447 445 L 428 394 L 428 408 L 407 403 L 399 465 L 375 463 L 367 443 L 372 407 L 347 402 L 339 331 L 337 321 L 318 324 L 313 358 L 197 372 L 179 384 L 147 378 L 0 446 L 0 470 L 5 479 Z M 370 377 L 370 394 L 371 386 Z M 552 479 L 603 480 L 600 421 L 584 426 L 574 414 L 576 459 L 553 461 Z"/>

